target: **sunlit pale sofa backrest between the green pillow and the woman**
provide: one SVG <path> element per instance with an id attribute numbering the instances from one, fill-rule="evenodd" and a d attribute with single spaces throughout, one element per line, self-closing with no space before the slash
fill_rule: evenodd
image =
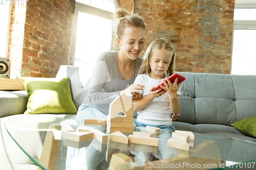
<path id="1" fill-rule="evenodd" d="M 70 88 L 73 102 L 78 109 L 88 94 L 92 67 L 78 67 L 72 65 L 61 65 L 56 78 L 70 79 Z"/>

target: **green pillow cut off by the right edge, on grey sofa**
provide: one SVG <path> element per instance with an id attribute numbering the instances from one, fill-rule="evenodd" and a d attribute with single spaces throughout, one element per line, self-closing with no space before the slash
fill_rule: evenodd
<path id="1" fill-rule="evenodd" d="M 256 116 L 244 118 L 231 124 L 231 126 L 248 136 L 256 137 Z"/>

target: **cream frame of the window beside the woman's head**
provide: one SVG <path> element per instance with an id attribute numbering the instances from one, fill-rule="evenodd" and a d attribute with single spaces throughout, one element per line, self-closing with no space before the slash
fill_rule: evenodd
<path id="1" fill-rule="evenodd" d="M 115 4 L 115 8 L 117 8 L 117 4 L 116 4 L 115 0 L 114 0 L 114 4 Z M 73 23 L 72 23 L 73 26 L 72 26 L 72 39 L 71 39 L 71 46 L 70 46 L 69 65 L 74 65 L 74 61 L 75 61 L 78 12 L 84 12 L 84 13 L 96 15 L 99 17 L 103 17 L 106 19 L 110 19 L 110 20 L 112 20 L 112 24 L 113 24 L 113 14 L 114 13 L 76 2 L 75 3 L 75 13 L 73 16 Z M 113 46 L 112 43 L 113 43 L 114 37 L 115 37 L 115 34 L 112 32 L 111 46 Z"/>

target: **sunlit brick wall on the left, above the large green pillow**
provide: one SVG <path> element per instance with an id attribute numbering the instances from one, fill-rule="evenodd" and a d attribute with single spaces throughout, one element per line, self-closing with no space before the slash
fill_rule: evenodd
<path id="1" fill-rule="evenodd" d="M 59 66 L 68 64 L 73 6 L 73 0 L 29 0 L 27 5 L 13 6 L 11 78 L 55 77 Z"/>

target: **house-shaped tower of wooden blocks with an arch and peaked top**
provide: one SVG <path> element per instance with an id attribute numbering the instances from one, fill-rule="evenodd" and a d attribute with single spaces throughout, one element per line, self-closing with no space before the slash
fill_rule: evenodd
<path id="1" fill-rule="evenodd" d="M 132 101 L 122 94 L 110 103 L 109 115 L 107 116 L 106 130 L 110 133 L 122 132 L 133 133 L 133 110 Z M 124 115 L 118 115 L 123 112 Z"/>

